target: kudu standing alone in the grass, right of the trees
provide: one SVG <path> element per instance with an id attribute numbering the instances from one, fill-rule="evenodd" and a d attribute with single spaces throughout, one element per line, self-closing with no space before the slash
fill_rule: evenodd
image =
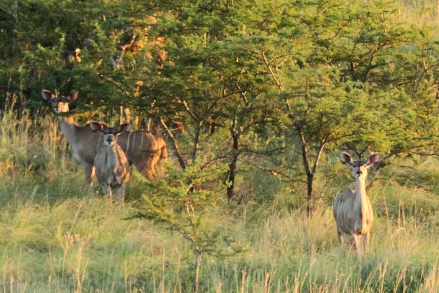
<path id="1" fill-rule="evenodd" d="M 372 153 L 366 161 L 354 161 L 348 153 L 342 152 L 340 156 L 345 165 L 352 167 L 355 191 L 346 189 L 334 200 L 332 208 L 338 239 L 343 246 L 342 234 L 352 236 L 353 248 L 359 252 L 358 246 L 363 238 L 363 251 L 366 252 L 373 223 L 372 205 L 366 195 L 367 170 L 375 165 L 380 157 L 378 153 Z"/>

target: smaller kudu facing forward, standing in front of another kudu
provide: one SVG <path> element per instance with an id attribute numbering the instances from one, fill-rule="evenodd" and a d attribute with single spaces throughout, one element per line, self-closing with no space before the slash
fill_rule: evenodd
<path id="1" fill-rule="evenodd" d="M 108 127 L 103 122 L 91 122 L 92 131 L 100 131 L 104 135 L 104 142 L 94 158 L 96 177 L 102 187 L 104 195 L 112 198 L 112 189 L 117 188 L 117 200 L 123 204 L 125 200 L 125 183 L 130 179 L 130 164 L 125 152 L 117 144 L 117 137 L 130 132 L 131 124 L 121 124 L 119 129 Z"/>

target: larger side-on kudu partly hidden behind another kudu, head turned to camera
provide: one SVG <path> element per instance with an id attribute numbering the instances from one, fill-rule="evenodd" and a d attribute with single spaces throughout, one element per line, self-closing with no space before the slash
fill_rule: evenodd
<path id="1" fill-rule="evenodd" d="M 51 104 L 55 113 L 69 113 L 69 104 L 76 100 L 78 92 L 72 90 L 67 96 L 55 96 L 49 90 L 43 90 L 42 96 Z M 93 132 L 89 125 L 78 125 L 72 115 L 60 116 L 59 121 L 61 131 L 73 150 L 73 157 L 84 167 L 86 182 L 89 185 L 93 161 L 102 145 L 103 135 L 100 132 Z M 154 178 L 158 162 L 168 156 L 166 142 L 161 137 L 146 131 L 121 134 L 117 143 L 125 151 L 130 165 L 134 164 L 137 170 L 149 180 Z"/>

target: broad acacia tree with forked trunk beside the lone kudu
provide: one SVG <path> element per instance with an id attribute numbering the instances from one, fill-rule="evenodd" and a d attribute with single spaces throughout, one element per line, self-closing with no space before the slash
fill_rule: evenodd
<path id="1" fill-rule="evenodd" d="M 437 64 L 419 66 L 426 54 L 435 59 L 432 44 L 392 22 L 389 8 L 300 0 L 243 7 L 243 38 L 278 92 L 281 122 L 299 141 L 308 215 L 326 149 L 398 154 L 436 142 L 430 127 L 437 124 L 437 107 L 425 101 L 437 104 L 427 73 Z M 419 124 L 428 127 L 415 130 Z"/>

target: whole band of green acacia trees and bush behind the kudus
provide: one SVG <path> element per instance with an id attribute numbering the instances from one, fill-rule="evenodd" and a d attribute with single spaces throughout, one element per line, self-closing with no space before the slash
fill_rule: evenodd
<path id="1" fill-rule="evenodd" d="M 237 172 L 259 168 L 306 183 L 311 212 L 331 150 L 435 153 L 438 44 L 392 5 L 9 0 L 2 106 L 35 113 L 43 88 L 77 89 L 86 116 L 123 106 L 161 127 L 181 169 L 215 174 L 228 198 Z"/>

